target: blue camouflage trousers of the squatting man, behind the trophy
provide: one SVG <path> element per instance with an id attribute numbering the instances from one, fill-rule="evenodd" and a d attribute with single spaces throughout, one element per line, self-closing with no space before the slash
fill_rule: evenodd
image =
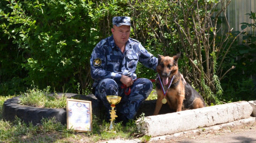
<path id="1" fill-rule="evenodd" d="M 116 105 L 117 120 L 127 122 L 133 119 L 139 110 L 139 107 L 151 93 L 153 84 L 149 79 L 138 78 L 134 81 L 133 85 L 130 86 L 130 94 L 124 93 L 124 88 L 121 88 L 122 83 L 115 82 L 113 79 L 103 79 L 99 82 L 95 88 L 95 96 L 101 100 L 106 109 L 111 110 L 110 104 L 108 103 L 107 95 L 118 95 L 121 97 L 121 101 Z M 110 119 L 110 113 L 107 113 L 107 119 Z"/>

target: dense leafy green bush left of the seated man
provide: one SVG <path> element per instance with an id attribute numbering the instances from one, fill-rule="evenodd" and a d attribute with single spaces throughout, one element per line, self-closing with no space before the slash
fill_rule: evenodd
<path id="1" fill-rule="evenodd" d="M 110 30 L 112 15 L 123 13 L 117 9 L 124 3 L 89 0 L 1 2 L 0 19 L 3 23 L 0 31 L 3 31 L 1 43 L 4 44 L 1 44 L 0 53 L 3 55 L 0 81 L 4 84 L 1 84 L 0 93 L 14 94 L 10 91 L 13 86 L 8 83 L 12 79 L 21 85 L 34 83 L 40 89 L 50 85 L 55 90 L 69 92 L 74 92 L 80 83 L 90 92 L 92 49 L 99 40 L 110 35 L 102 31 Z M 105 28 L 100 30 L 101 27 Z M 10 56 L 15 59 L 10 59 Z M 9 73 L 12 70 L 16 73 Z"/>

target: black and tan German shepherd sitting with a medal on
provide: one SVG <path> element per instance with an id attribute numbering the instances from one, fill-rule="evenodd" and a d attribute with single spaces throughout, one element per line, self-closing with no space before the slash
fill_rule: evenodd
<path id="1" fill-rule="evenodd" d="M 181 79 L 178 68 L 180 56 L 181 53 L 173 57 L 158 54 L 158 78 L 156 82 L 158 99 L 153 115 L 158 115 L 162 105 L 166 102 L 176 112 L 205 107 L 202 96 L 191 85 L 184 83 Z"/>

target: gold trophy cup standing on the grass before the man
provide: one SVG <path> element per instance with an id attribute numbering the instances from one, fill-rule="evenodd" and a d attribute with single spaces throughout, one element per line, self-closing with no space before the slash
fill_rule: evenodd
<path id="1" fill-rule="evenodd" d="M 109 132 L 115 132 L 114 126 L 113 126 L 113 120 L 115 119 L 115 117 L 117 117 L 117 115 L 115 114 L 114 108 L 115 105 L 117 105 L 120 101 L 121 101 L 121 97 L 120 96 L 114 96 L 114 95 L 108 95 L 106 96 L 107 101 L 111 104 L 111 110 L 110 111 L 110 125 L 108 127 L 108 131 Z"/>

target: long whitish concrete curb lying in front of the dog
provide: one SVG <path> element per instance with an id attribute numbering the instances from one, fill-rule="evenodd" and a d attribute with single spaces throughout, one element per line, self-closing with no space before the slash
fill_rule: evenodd
<path id="1" fill-rule="evenodd" d="M 247 119 L 252 112 L 253 107 L 247 101 L 240 101 L 176 113 L 148 116 L 144 117 L 144 120 L 138 119 L 136 124 L 142 134 L 154 137 Z"/>

